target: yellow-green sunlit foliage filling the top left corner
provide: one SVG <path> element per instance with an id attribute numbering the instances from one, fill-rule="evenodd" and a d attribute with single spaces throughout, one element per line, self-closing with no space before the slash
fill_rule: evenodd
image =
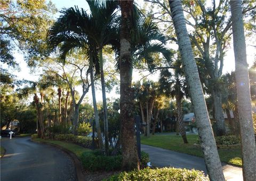
<path id="1" fill-rule="evenodd" d="M 14 45 L 31 66 L 41 59 L 39 55 L 46 55 L 46 31 L 55 12 L 51 1 L 1 1 L 1 62 L 17 66 L 11 52 Z"/>

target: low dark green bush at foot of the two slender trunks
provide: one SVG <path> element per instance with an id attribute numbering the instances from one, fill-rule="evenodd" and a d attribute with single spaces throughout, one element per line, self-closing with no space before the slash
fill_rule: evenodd
<path id="1" fill-rule="evenodd" d="M 81 156 L 81 162 L 86 170 L 90 171 L 113 171 L 122 167 L 122 156 L 105 156 L 96 152 L 85 152 Z"/>

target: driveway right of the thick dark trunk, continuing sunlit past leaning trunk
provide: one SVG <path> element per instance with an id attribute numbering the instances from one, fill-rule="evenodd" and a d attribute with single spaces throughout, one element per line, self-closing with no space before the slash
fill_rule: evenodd
<path id="1" fill-rule="evenodd" d="M 202 170 L 207 174 L 203 158 L 193 155 L 165 150 L 154 146 L 141 145 L 141 150 L 149 154 L 150 162 L 156 167 L 174 167 Z M 222 164 L 223 174 L 228 181 L 243 180 L 242 168 L 234 167 L 226 163 Z"/>

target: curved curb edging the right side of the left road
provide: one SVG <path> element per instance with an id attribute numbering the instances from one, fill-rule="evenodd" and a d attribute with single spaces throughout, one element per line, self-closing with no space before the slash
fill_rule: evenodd
<path id="1" fill-rule="evenodd" d="M 42 143 L 42 144 L 46 144 L 46 145 L 51 145 L 51 146 L 57 147 L 58 149 L 62 150 L 65 153 L 67 153 L 73 159 L 73 162 L 75 164 L 77 180 L 78 181 L 84 180 L 84 174 L 83 174 L 83 171 L 82 171 L 81 162 L 79 161 L 79 159 L 77 158 L 77 156 L 73 152 L 70 152 L 69 150 L 65 149 L 64 147 L 59 146 L 59 145 L 55 145 L 55 144 L 52 144 L 52 143 L 38 142 L 38 141 L 35 141 L 33 139 L 30 139 L 30 141 L 35 142 L 35 143 Z"/>

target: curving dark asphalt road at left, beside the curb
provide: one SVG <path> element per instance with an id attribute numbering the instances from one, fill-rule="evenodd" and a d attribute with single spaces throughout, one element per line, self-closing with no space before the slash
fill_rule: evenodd
<path id="1" fill-rule="evenodd" d="M 34 143 L 30 137 L 1 139 L 1 181 L 77 180 L 73 160 L 53 146 Z"/>

